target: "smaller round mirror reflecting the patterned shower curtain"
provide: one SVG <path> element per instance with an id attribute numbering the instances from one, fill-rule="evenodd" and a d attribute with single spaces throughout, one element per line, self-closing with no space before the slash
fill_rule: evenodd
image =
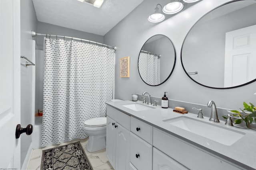
<path id="1" fill-rule="evenodd" d="M 140 50 L 140 77 L 150 86 L 163 84 L 171 76 L 175 62 L 176 51 L 172 41 L 164 35 L 154 35 Z"/>

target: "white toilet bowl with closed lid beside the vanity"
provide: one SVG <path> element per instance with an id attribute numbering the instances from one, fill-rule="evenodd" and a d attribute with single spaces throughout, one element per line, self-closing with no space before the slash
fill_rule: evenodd
<path id="1" fill-rule="evenodd" d="M 84 130 L 89 135 L 86 150 L 96 152 L 106 148 L 106 117 L 89 119 L 84 122 Z"/>

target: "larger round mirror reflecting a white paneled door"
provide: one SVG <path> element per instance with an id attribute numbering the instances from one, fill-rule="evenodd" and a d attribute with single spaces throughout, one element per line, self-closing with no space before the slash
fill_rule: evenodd
<path id="1" fill-rule="evenodd" d="M 244 86 L 256 80 L 256 0 L 226 3 L 204 15 L 182 44 L 186 74 L 209 88 Z"/>

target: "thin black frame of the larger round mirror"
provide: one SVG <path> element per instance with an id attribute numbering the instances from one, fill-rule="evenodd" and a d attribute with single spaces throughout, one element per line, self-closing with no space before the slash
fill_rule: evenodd
<path id="1" fill-rule="evenodd" d="M 204 14 L 202 17 L 200 17 L 200 18 L 196 21 L 196 23 L 198 23 L 202 18 L 204 18 L 204 16 L 206 16 L 206 15 L 209 14 L 210 12 L 216 10 L 217 8 L 220 8 L 221 6 L 230 4 L 230 3 L 232 3 L 232 2 L 238 2 L 238 1 L 243 1 L 243 0 L 232 0 L 232 1 L 230 1 L 230 2 L 226 2 L 226 3 L 224 3 L 224 4 L 220 5 L 220 6 L 217 6 L 216 8 L 210 10 L 209 12 L 207 12 L 206 14 Z M 187 74 L 187 76 L 188 76 L 191 80 L 193 80 L 194 82 L 196 82 L 197 84 L 199 84 L 199 85 L 201 85 L 201 86 L 204 86 L 204 87 L 207 87 L 207 88 L 213 88 L 213 89 L 231 89 L 231 88 L 238 88 L 238 87 L 242 87 L 242 86 L 245 86 L 245 85 L 247 85 L 247 84 L 250 84 L 250 83 L 256 81 L 256 78 L 255 78 L 254 80 L 251 80 L 250 82 L 246 82 L 246 83 L 240 84 L 240 85 L 238 85 L 238 86 L 223 87 L 223 88 L 222 88 L 222 87 L 206 86 L 206 85 L 201 84 L 201 83 L 197 82 L 196 80 L 194 80 L 194 79 L 188 74 L 188 72 L 186 71 L 186 69 L 184 68 L 184 65 L 183 65 L 183 62 L 182 62 L 182 50 L 183 50 L 183 45 L 184 45 L 184 42 L 185 42 L 185 40 L 186 40 L 188 34 L 190 33 L 191 29 L 196 25 L 196 23 L 194 23 L 194 25 L 189 29 L 188 33 L 186 34 L 186 37 L 185 37 L 184 40 L 183 40 L 182 47 L 181 47 L 181 51 L 180 51 L 180 60 L 181 60 L 182 68 L 183 68 L 184 72 Z"/>

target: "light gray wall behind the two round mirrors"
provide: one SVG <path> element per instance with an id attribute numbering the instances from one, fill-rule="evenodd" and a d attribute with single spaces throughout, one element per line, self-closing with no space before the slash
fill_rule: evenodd
<path id="1" fill-rule="evenodd" d="M 131 94 L 146 91 L 152 96 L 167 97 L 172 100 L 184 101 L 194 104 L 206 105 L 214 100 L 217 107 L 239 109 L 243 102 L 256 102 L 256 82 L 249 85 L 226 90 L 206 88 L 193 82 L 185 74 L 181 61 L 180 51 L 182 42 L 194 23 L 210 10 L 228 2 L 229 0 L 202 0 L 180 14 L 174 15 L 161 23 L 150 23 L 147 18 L 154 12 L 157 3 L 167 4 L 166 1 L 145 0 L 124 20 L 120 21 L 104 36 L 104 43 L 117 46 L 116 61 L 130 56 L 130 78 L 120 78 L 120 63 L 116 62 L 115 72 L 115 98 L 131 100 Z M 139 76 L 137 69 L 138 53 L 149 37 L 163 34 L 169 37 L 177 52 L 177 61 L 173 74 L 160 86 L 148 86 Z M 210 112 L 210 108 L 205 110 Z M 220 116 L 219 116 L 220 117 Z"/>

